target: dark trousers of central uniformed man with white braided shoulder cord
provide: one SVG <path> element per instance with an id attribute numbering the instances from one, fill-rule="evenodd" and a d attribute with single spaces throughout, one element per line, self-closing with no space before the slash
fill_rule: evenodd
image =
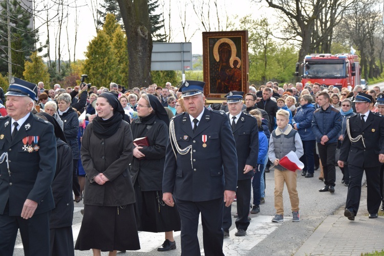
<path id="1" fill-rule="evenodd" d="M 223 205 L 224 198 L 203 202 L 177 200 L 181 219 L 181 254 L 200 255 L 197 237 L 199 215 L 203 226 L 204 254 L 224 256 L 223 253 Z"/>

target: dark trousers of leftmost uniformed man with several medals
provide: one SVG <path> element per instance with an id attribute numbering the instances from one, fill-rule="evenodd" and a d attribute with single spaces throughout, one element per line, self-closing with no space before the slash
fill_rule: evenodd
<path id="1" fill-rule="evenodd" d="M 50 211 L 33 215 L 25 220 L 20 216 L 0 215 L 0 255 L 12 256 L 17 237 L 17 230 L 20 229 L 22 236 L 24 255 L 49 255 Z"/>

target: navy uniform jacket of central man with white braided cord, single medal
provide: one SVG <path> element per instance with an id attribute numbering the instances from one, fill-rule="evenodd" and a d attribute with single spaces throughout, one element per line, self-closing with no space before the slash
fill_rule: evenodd
<path id="1" fill-rule="evenodd" d="M 225 113 L 204 108 L 195 133 L 188 113 L 175 116 L 173 122 L 180 148 L 189 145 L 192 148 L 185 155 L 176 151 L 176 159 L 168 141 L 163 193 L 175 193 L 177 199 L 200 202 L 222 198 L 224 190 L 236 191 L 236 144 Z M 202 135 L 207 137 L 206 147 L 203 146 Z"/>

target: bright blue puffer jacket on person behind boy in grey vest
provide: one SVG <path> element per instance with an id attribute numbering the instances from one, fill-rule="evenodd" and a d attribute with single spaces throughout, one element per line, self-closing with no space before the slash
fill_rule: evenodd
<path id="1" fill-rule="evenodd" d="M 297 132 L 303 141 L 315 140 L 312 132 L 312 118 L 315 106 L 312 103 L 305 104 L 297 108 L 296 114 L 292 119 L 292 126 L 296 124 Z"/>

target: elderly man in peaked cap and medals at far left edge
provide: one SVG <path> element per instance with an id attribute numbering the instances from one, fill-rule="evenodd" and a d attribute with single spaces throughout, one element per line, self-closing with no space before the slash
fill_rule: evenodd
<path id="1" fill-rule="evenodd" d="M 36 94 L 36 84 L 13 78 L 0 117 L 0 255 L 13 254 L 18 229 L 25 255 L 49 255 L 56 140 L 52 124 L 31 113 Z"/>

